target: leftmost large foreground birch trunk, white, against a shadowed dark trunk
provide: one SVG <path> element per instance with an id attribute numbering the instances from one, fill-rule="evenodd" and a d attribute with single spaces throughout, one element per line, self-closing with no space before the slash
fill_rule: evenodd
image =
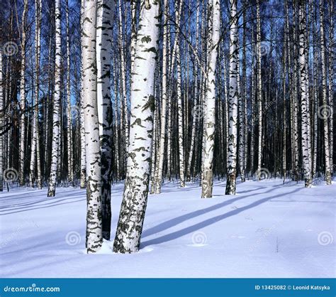
<path id="1" fill-rule="evenodd" d="M 103 242 L 101 210 L 101 147 L 97 104 L 96 61 L 97 1 L 84 1 L 83 85 L 86 143 L 86 250 L 98 252 Z"/>

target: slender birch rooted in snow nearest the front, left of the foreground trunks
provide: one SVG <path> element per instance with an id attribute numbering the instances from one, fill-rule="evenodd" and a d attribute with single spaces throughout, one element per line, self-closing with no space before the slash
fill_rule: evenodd
<path id="1" fill-rule="evenodd" d="M 60 144 L 60 101 L 61 101 L 61 7 L 60 0 L 55 1 L 55 95 L 52 115 L 52 148 L 49 188 L 47 197 L 55 196 L 58 151 Z"/>

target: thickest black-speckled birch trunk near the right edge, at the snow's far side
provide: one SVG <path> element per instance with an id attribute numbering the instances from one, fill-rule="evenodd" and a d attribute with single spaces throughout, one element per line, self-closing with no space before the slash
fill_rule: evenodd
<path id="1" fill-rule="evenodd" d="M 311 186 L 311 148 L 310 148 L 310 104 L 308 95 L 308 69 L 307 56 L 308 47 L 306 41 L 306 4 L 304 1 L 299 3 L 299 57 L 298 63 L 300 67 L 300 89 L 301 89 L 301 144 L 303 171 L 305 178 L 305 187 Z"/>

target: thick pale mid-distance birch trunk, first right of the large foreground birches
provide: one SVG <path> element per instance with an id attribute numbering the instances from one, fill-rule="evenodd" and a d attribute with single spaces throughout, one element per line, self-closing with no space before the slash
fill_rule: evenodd
<path id="1" fill-rule="evenodd" d="M 202 198 L 213 195 L 213 148 L 215 146 L 215 69 L 220 37 L 220 1 L 209 2 L 209 31 L 211 32 L 208 56 L 208 77 L 206 80 L 205 147 L 202 180 Z"/>

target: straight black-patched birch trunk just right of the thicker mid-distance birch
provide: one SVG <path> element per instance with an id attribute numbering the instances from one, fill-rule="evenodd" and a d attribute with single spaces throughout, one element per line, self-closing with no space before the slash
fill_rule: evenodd
<path id="1" fill-rule="evenodd" d="M 238 48 L 237 0 L 230 0 L 230 92 L 229 92 L 229 131 L 228 131 L 228 163 L 225 195 L 235 195 L 237 167 L 237 114 L 238 85 L 237 59 Z"/>

